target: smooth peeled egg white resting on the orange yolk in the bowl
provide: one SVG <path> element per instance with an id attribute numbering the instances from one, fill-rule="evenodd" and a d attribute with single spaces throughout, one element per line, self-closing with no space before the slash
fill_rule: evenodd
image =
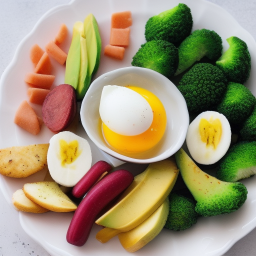
<path id="1" fill-rule="evenodd" d="M 99 115 L 110 130 L 127 136 L 146 131 L 153 120 L 147 100 L 136 91 L 118 85 L 103 87 Z"/>

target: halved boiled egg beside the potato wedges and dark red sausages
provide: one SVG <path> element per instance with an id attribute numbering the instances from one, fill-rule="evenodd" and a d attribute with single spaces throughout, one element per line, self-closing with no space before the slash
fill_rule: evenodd
<path id="1" fill-rule="evenodd" d="M 91 167 L 88 141 L 70 131 L 54 134 L 49 140 L 47 164 L 51 177 L 63 186 L 74 186 Z"/>

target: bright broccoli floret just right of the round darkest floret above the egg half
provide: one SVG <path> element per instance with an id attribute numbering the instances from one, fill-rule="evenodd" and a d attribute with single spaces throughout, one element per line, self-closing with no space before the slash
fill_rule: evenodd
<path id="1" fill-rule="evenodd" d="M 243 122 L 256 104 L 255 96 L 241 83 L 228 82 L 216 111 L 225 115 L 230 124 Z"/>

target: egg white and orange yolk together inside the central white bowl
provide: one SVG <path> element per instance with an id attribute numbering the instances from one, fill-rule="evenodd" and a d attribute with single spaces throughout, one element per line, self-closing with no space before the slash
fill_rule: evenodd
<path id="1" fill-rule="evenodd" d="M 159 98 L 132 85 L 105 85 L 99 115 L 106 142 L 123 154 L 151 149 L 166 127 L 166 113 Z"/>

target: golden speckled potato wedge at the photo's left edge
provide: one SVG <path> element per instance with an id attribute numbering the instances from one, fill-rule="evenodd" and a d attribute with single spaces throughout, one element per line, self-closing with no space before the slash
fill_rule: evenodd
<path id="1" fill-rule="evenodd" d="M 27 177 L 47 165 L 49 143 L 11 146 L 0 149 L 0 173 L 9 177 Z"/>

